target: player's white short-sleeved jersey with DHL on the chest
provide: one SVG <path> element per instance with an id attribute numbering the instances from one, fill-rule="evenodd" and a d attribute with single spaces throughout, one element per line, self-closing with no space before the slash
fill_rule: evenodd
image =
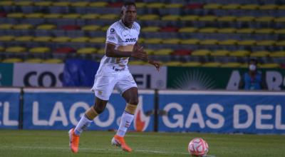
<path id="1" fill-rule="evenodd" d="M 117 21 L 112 24 L 106 35 L 106 44 L 114 44 L 115 49 L 119 51 L 133 51 L 133 46 L 138 41 L 140 34 L 140 25 L 137 22 L 133 23 L 131 29 L 126 27 L 123 22 Z M 102 71 L 113 71 L 114 69 L 120 71 L 120 69 L 128 70 L 128 57 L 116 58 L 108 57 L 106 55 L 100 61 L 100 66 L 97 74 Z"/>

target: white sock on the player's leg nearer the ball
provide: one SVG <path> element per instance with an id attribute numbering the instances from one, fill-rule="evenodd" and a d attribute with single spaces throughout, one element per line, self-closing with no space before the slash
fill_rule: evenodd
<path id="1" fill-rule="evenodd" d="M 130 127 L 130 124 L 133 122 L 134 115 L 127 113 L 124 111 L 122 118 L 120 119 L 120 127 L 117 131 L 118 136 L 125 136 L 125 133 L 127 132 L 128 128 Z"/>

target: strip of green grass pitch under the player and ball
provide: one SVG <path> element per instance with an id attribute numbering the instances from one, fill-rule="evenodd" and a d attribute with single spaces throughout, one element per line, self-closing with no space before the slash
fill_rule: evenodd
<path id="1" fill-rule="evenodd" d="M 0 130 L 0 156 L 189 156 L 187 145 L 195 137 L 207 141 L 211 156 L 285 156 L 284 135 L 128 133 L 125 140 L 132 153 L 110 146 L 113 135 L 112 131 L 86 131 L 79 153 L 73 154 L 67 131 Z"/>

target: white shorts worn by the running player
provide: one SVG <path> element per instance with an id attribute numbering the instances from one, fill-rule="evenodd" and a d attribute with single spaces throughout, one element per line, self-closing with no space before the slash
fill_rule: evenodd
<path id="1" fill-rule="evenodd" d="M 112 74 L 96 74 L 92 91 L 95 96 L 108 101 L 114 88 L 122 95 L 126 90 L 138 87 L 128 69 L 115 71 Z"/>

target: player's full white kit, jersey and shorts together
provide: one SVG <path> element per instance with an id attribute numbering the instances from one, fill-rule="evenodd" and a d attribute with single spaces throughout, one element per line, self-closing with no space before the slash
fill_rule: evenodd
<path id="1" fill-rule="evenodd" d="M 109 27 L 106 43 L 114 44 L 115 49 L 119 51 L 133 51 L 139 34 L 140 25 L 138 23 L 135 22 L 129 29 L 122 21 L 117 21 Z M 129 88 L 138 88 L 127 64 L 128 57 L 103 56 L 92 87 L 97 98 L 108 101 L 114 88 L 118 89 L 121 94 Z"/>

